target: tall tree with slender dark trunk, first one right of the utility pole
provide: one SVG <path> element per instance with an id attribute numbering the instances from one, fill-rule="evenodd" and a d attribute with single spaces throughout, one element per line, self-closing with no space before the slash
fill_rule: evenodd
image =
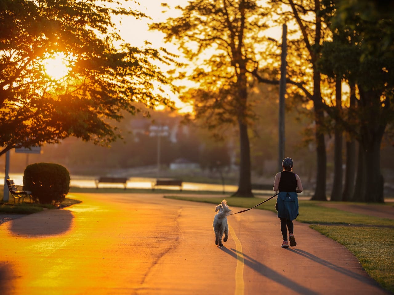
<path id="1" fill-rule="evenodd" d="M 325 150 L 325 113 L 324 102 L 322 100 L 321 82 L 322 77 L 317 67 L 319 60 L 319 52 L 316 47 L 329 33 L 329 30 L 323 26 L 323 19 L 320 14 L 320 1 L 313 0 L 305 1 L 283 1 L 271 0 L 271 10 L 280 15 L 277 22 L 295 21 L 301 32 L 301 37 L 294 40 L 293 45 L 298 57 L 296 58 L 295 67 L 298 71 L 292 70 L 289 66 L 290 72 L 286 78 L 286 82 L 296 86 L 303 96 L 313 103 L 316 141 L 316 188 L 312 200 L 327 200 L 326 198 L 326 175 L 327 175 L 327 154 Z M 313 17 L 311 17 L 313 15 Z M 289 48 L 289 52 L 291 49 Z M 299 60 L 302 60 L 300 63 Z M 298 65 L 297 65 L 298 64 Z M 302 66 L 299 66 L 302 64 Z M 278 80 L 273 80 L 271 77 L 261 75 L 258 70 L 253 74 L 258 81 L 277 84 Z"/>

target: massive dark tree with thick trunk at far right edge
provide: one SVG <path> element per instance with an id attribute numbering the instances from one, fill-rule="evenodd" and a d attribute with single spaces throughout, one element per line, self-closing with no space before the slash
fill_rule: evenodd
<path id="1" fill-rule="evenodd" d="M 365 190 L 356 185 L 355 200 L 383 202 L 380 147 L 386 126 L 394 120 L 394 23 L 386 11 L 373 10 L 365 17 L 354 2 L 342 5 L 328 1 L 326 5 L 337 11 L 331 19 L 331 30 L 343 42 L 339 44 L 340 50 L 337 42 L 325 42 L 322 59 L 334 58 L 337 72 L 344 73 L 359 90 L 356 110 L 359 128 L 343 122 L 360 144 L 356 181 L 365 185 Z"/>

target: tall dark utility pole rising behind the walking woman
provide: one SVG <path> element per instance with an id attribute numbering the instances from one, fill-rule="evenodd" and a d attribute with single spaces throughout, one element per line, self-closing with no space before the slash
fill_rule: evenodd
<path id="1" fill-rule="evenodd" d="M 283 24 L 282 28 L 282 53 L 281 53 L 281 80 L 279 83 L 279 145 L 278 145 L 278 160 L 279 171 L 282 171 L 282 161 L 284 159 L 284 95 L 286 93 L 286 55 L 287 55 L 287 26 Z"/>

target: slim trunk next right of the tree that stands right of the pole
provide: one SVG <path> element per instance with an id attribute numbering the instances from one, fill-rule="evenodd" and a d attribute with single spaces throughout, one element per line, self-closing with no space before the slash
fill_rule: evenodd
<path id="1" fill-rule="evenodd" d="M 342 114 L 341 79 L 335 81 L 335 101 L 338 115 Z M 334 147 L 334 181 L 331 191 L 331 201 L 342 201 L 342 127 L 338 120 L 335 121 L 335 147 Z"/>

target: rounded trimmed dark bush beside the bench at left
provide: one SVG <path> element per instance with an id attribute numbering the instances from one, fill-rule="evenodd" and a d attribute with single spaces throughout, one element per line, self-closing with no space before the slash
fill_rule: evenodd
<path id="1" fill-rule="evenodd" d="M 23 189 L 41 204 L 60 203 L 70 189 L 69 171 L 54 163 L 28 165 L 23 174 Z"/>

